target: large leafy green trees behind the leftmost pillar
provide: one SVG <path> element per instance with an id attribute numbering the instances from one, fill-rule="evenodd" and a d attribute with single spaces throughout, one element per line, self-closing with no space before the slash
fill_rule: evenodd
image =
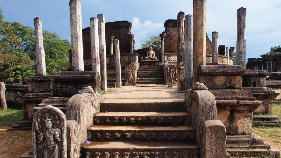
<path id="1" fill-rule="evenodd" d="M 67 70 L 70 42 L 46 30 L 43 41 L 47 74 Z M 19 22 L 3 21 L 0 8 L 0 81 L 12 78 L 11 67 L 25 65 L 36 70 L 35 63 L 35 30 Z"/>

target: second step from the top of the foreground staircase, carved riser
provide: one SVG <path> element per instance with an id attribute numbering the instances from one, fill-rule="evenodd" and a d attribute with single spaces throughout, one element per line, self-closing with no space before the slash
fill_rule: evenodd
<path id="1" fill-rule="evenodd" d="M 182 113 L 97 113 L 95 125 L 190 125 L 190 114 Z"/>

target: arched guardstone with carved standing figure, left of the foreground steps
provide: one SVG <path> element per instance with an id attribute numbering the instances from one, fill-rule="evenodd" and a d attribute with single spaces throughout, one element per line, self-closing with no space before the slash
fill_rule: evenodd
<path id="1" fill-rule="evenodd" d="M 33 117 L 34 158 L 66 158 L 66 118 L 54 106 L 40 108 Z"/>

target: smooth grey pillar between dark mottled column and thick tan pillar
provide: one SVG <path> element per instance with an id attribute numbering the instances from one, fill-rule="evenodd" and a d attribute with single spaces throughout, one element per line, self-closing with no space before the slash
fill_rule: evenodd
<path id="1" fill-rule="evenodd" d="M 185 16 L 185 90 L 192 87 L 192 15 Z"/>

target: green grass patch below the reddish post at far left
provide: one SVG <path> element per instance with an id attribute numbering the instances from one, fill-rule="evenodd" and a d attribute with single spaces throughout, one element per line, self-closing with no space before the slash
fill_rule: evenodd
<path id="1" fill-rule="evenodd" d="M 7 126 L 17 120 L 23 119 L 23 111 L 22 110 L 14 110 L 14 109 L 0 109 L 0 127 Z"/>

